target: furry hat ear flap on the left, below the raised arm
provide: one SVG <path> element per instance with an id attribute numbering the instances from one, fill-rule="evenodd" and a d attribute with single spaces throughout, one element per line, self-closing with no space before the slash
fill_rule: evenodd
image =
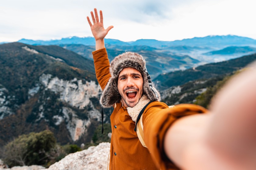
<path id="1" fill-rule="evenodd" d="M 112 105 L 120 102 L 121 100 L 121 95 L 119 94 L 116 81 L 117 80 L 114 78 L 110 78 L 102 92 L 100 104 L 104 108 L 110 108 Z"/>

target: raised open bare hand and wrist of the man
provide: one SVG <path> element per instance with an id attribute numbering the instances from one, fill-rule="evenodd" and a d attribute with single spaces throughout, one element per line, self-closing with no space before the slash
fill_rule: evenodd
<path id="1" fill-rule="evenodd" d="M 99 50 L 101 48 L 105 48 L 104 38 L 108 34 L 108 31 L 113 28 L 113 26 L 111 25 L 107 29 L 105 29 L 103 26 L 102 11 L 100 11 L 100 20 L 99 20 L 98 12 L 96 8 L 94 8 L 94 13 L 95 13 L 95 17 L 93 12 L 91 11 L 91 18 L 92 18 L 93 24 L 91 23 L 89 16 L 87 16 L 87 21 L 91 27 L 92 35 L 94 36 L 96 41 L 96 50 Z"/>

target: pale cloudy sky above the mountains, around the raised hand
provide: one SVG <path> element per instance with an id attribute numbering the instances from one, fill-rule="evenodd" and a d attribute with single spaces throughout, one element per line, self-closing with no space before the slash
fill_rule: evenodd
<path id="1" fill-rule="evenodd" d="M 0 0 L 0 42 L 92 36 L 86 16 L 102 10 L 105 38 L 161 41 L 208 35 L 256 39 L 255 0 Z"/>

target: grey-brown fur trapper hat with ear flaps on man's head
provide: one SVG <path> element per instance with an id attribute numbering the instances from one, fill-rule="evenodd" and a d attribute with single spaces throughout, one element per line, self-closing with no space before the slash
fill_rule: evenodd
<path id="1" fill-rule="evenodd" d="M 144 58 L 135 52 L 125 52 L 116 56 L 110 63 L 109 70 L 111 77 L 109 78 L 100 98 L 100 104 L 103 108 L 109 108 L 115 103 L 120 102 L 121 95 L 117 88 L 118 76 L 123 68 L 127 67 L 137 69 L 142 75 L 143 93 L 148 97 L 148 99 L 160 101 L 159 92 L 152 87 L 151 78 L 147 72 L 146 61 Z"/>

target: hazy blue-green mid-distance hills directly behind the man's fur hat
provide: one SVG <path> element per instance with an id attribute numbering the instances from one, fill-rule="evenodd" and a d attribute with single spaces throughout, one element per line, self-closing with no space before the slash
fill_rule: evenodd
<path id="1" fill-rule="evenodd" d="M 95 50 L 93 46 L 86 46 L 80 44 L 69 44 L 69 45 L 60 45 L 65 49 L 69 49 L 73 52 L 76 52 L 85 58 L 91 59 L 91 52 Z M 170 72 L 173 70 L 191 68 L 200 61 L 191 58 L 188 55 L 171 55 L 163 52 L 158 48 L 149 47 L 146 45 L 143 46 L 120 46 L 120 45 L 106 45 L 108 58 L 111 62 L 114 57 L 119 54 L 122 54 L 126 51 L 137 52 L 142 55 L 147 62 L 148 72 L 151 74 L 152 78 L 157 75 Z"/>

